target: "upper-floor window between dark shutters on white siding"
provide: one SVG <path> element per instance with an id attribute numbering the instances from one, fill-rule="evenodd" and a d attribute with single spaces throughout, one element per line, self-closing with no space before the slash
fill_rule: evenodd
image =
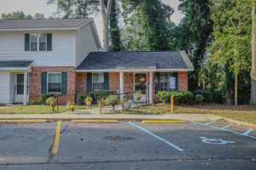
<path id="1" fill-rule="evenodd" d="M 30 34 L 30 50 L 46 51 L 47 36 L 46 34 Z"/>

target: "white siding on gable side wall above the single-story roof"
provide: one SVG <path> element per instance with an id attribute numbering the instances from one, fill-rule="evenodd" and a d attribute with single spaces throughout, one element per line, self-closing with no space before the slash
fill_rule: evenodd
<path id="1" fill-rule="evenodd" d="M 96 37 L 91 24 L 79 28 L 76 33 L 76 66 L 78 66 L 90 52 L 99 51 Z"/>

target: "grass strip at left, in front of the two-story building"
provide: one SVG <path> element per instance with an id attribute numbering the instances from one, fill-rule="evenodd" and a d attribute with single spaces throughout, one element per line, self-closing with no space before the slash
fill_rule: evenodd
<path id="1" fill-rule="evenodd" d="M 89 107 L 81 105 L 76 106 L 76 111 L 87 109 Z M 57 111 L 57 107 L 55 107 L 55 111 Z M 67 110 L 66 105 L 59 105 L 60 112 L 70 111 Z M 0 107 L 0 114 L 47 114 L 47 113 L 55 113 L 52 111 L 52 107 L 49 105 L 26 105 L 26 106 L 13 106 L 9 108 Z"/>

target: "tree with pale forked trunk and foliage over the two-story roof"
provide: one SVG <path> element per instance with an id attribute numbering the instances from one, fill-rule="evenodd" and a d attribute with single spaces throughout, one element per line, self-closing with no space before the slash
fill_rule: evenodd
<path id="1" fill-rule="evenodd" d="M 96 14 L 99 6 L 103 21 L 103 51 L 109 51 L 109 14 L 112 0 L 48 0 L 48 4 L 57 3 L 58 12 L 64 12 L 63 18 L 84 18 Z"/>

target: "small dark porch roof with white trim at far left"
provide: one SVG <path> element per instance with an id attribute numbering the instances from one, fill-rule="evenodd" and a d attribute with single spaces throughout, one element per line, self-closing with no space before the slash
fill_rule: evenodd
<path id="1" fill-rule="evenodd" d="M 31 69 L 32 60 L 9 60 L 0 61 L 2 71 L 28 71 Z"/>

